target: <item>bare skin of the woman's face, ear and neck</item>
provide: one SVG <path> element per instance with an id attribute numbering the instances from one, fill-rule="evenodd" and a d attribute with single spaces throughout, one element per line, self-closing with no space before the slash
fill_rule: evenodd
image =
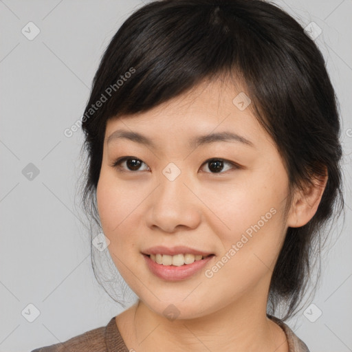
<path id="1" fill-rule="evenodd" d="M 220 80 L 201 85 L 144 113 L 107 122 L 98 212 L 109 252 L 126 283 L 139 297 L 116 317 L 128 349 L 143 351 L 287 352 L 285 333 L 266 316 L 267 296 L 276 259 L 289 226 L 314 216 L 325 183 L 296 192 L 289 213 L 284 208 L 288 176 L 271 137 L 250 107 L 232 102 L 241 90 Z M 117 129 L 150 137 L 150 146 L 107 137 Z M 213 142 L 190 148 L 195 135 L 231 131 L 254 143 Z M 140 169 L 120 169 L 118 157 L 133 156 Z M 218 157 L 221 173 L 206 162 Z M 173 181 L 162 170 L 168 163 L 181 174 Z M 236 168 L 236 164 L 239 166 Z M 124 171 L 123 171 L 124 170 Z M 270 209 L 276 213 L 214 276 L 205 270 L 240 241 L 245 230 Z M 184 281 L 153 275 L 141 252 L 153 245 L 187 245 L 212 252 L 206 267 Z M 179 316 L 163 311 L 175 305 Z"/>

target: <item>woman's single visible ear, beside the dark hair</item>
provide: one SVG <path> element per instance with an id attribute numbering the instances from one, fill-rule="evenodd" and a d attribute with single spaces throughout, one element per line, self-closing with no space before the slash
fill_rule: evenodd
<path id="1" fill-rule="evenodd" d="M 314 184 L 307 185 L 304 190 L 297 190 L 292 201 L 291 209 L 287 217 L 287 226 L 300 228 L 314 217 L 318 209 L 322 194 L 327 186 L 328 173 L 325 167 L 325 175 L 314 178 Z"/>

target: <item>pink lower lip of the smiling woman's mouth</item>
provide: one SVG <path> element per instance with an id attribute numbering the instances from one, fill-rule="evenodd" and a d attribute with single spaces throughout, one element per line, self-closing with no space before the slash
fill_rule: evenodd
<path id="1" fill-rule="evenodd" d="M 162 265 L 155 263 L 149 256 L 143 254 L 144 259 L 146 261 L 146 265 L 148 265 L 149 270 L 159 278 L 163 278 L 167 281 L 181 281 L 186 278 L 189 278 L 196 272 L 199 272 L 203 267 L 205 267 L 209 261 L 212 260 L 214 255 L 207 256 L 205 259 L 201 259 L 200 261 L 195 261 L 192 264 L 185 264 L 179 267 L 175 265 Z"/>

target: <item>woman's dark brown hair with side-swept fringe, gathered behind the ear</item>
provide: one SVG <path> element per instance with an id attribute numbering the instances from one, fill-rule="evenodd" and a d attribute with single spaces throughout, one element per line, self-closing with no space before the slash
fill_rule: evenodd
<path id="1" fill-rule="evenodd" d="M 336 214 L 344 201 L 340 121 L 324 58 L 303 27 L 276 5 L 153 1 L 122 24 L 102 56 L 84 113 L 83 204 L 99 224 L 96 187 L 109 118 L 147 111 L 204 80 L 225 76 L 234 85 L 241 78 L 251 109 L 276 143 L 289 177 L 288 205 L 296 187 L 314 183 L 325 170 L 329 175 L 316 214 L 306 225 L 287 230 L 274 268 L 267 309 L 274 314 L 285 303 L 285 320 L 305 293 L 321 231 L 338 200 Z M 92 110 L 98 100 L 104 102 Z"/>

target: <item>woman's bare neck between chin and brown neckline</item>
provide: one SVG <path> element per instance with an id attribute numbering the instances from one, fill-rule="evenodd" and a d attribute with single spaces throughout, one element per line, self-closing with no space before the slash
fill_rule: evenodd
<path id="1" fill-rule="evenodd" d="M 266 316 L 266 301 L 246 297 L 241 302 L 201 318 L 169 320 L 142 301 L 131 307 L 129 348 L 144 351 L 287 352 L 283 330 Z M 148 323 L 146 323 L 148 322 Z"/>

